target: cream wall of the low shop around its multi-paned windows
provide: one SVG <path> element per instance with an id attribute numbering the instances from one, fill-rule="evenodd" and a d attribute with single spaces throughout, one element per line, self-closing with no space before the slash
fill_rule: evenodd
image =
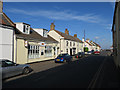
<path id="1" fill-rule="evenodd" d="M 29 41 L 30 45 L 40 45 L 40 42 L 32 42 Z M 24 46 L 24 40 L 23 39 L 17 39 L 17 60 L 16 62 L 18 64 L 25 64 L 25 63 L 32 63 L 32 62 L 38 62 L 38 61 L 45 61 L 45 60 L 49 60 L 49 59 L 54 59 L 56 57 L 56 55 L 54 55 L 54 49 L 53 47 L 56 47 L 57 44 L 56 43 L 46 43 L 46 45 L 48 46 L 52 46 L 52 56 L 46 57 L 45 56 L 45 47 L 44 46 L 40 46 L 40 57 L 39 58 L 34 58 L 34 59 L 29 59 L 28 58 L 28 48 L 26 48 Z M 41 50 L 44 51 L 44 55 L 41 55 Z"/>

